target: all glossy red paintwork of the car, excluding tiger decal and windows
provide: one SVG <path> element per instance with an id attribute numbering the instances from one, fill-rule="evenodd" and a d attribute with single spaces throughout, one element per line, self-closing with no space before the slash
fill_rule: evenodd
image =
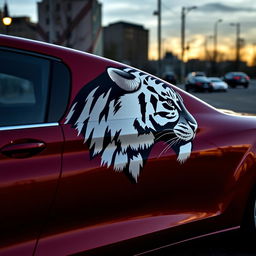
<path id="1" fill-rule="evenodd" d="M 255 118 L 224 114 L 173 86 L 198 123 L 191 156 L 180 164 L 173 150 L 159 156 L 166 145 L 155 143 L 132 183 L 101 166 L 100 156 L 91 159 L 84 138 L 65 124 L 81 88 L 123 64 L 13 37 L 1 36 L 0 46 L 57 58 L 72 81 L 58 126 L 0 130 L 0 255 L 114 255 L 117 248 L 125 255 L 241 224 L 256 182 Z M 45 148 L 6 156 L 13 145 Z"/>

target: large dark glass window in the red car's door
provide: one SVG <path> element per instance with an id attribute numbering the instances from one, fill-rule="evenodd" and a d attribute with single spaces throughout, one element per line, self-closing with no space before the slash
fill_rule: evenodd
<path id="1" fill-rule="evenodd" d="M 5 50 L 0 54 L 0 126 L 44 122 L 50 61 Z"/>

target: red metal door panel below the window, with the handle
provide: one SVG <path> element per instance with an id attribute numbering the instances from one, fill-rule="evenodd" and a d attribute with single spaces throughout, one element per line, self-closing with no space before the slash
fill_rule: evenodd
<path id="1" fill-rule="evenodd" d="M 26 254 L 32 254 L 56 192 L 63 136 L 56 124 L 17 128 L 0 129 L 0 240 L 3 252 L 12 254 L 26 242 Z M 26 156 L 34 149 L 35 141 L 44 143 L 44 150 L 33 157 Z M 11 157 L 3 154 L 7 145 L 13 153 Z M 28 149 L 17 149 L 17 145 L 26 145 Z"/>

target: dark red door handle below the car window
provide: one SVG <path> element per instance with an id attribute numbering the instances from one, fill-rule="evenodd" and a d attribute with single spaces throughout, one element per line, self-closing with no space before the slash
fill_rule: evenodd
<path id="1" fill-rule="evenodd" d="M 42 141 L 14 142 L 4 146 L 1 153 L 11 158 L 27 158 L 34 156 L 46 148 Z"/>

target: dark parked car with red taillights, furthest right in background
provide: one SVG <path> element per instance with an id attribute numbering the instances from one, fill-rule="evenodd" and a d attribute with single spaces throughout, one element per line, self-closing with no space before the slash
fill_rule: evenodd
<path id="1" fill-rule="evenodd" d="M 247 88 L 250 83 L 250 77 L 243 72 L 229 72 L 227 73 L 223 80 L 231 87 L 235 88 L 239 85 Z"/>

